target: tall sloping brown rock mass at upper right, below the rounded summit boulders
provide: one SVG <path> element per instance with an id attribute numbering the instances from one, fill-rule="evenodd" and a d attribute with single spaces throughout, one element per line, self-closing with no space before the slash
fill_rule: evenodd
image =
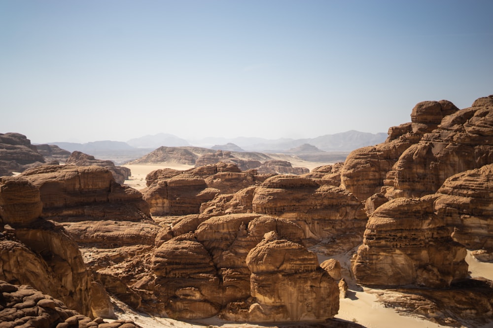
<path id="1" fill-rule="evenodd" d="M 493 163 L 493 95 L 447 113 L 452 114 L 404 151 L 388 173 L 382 189 L 388 199 L 435 193 L 447 178 Z"/>

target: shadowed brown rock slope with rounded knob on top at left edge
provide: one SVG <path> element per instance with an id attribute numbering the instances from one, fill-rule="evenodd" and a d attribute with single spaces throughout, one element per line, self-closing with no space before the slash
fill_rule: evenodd
<path id="1" fill-rule="evenodd" d="M 0 279 L 30 284 L 92 315 L 90 279 L 80 251 L 63 228 L 39 218 L 39 190 L 26 179 L 2 178 L 0 204 L 3 229 L 8 227 L 0 234 Z"/>

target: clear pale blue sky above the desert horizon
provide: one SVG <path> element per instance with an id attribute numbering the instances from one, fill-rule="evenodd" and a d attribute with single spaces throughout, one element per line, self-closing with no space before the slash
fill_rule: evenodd
<path id="1" fill-rule="evenodd" d="M 0 133 L 387 132 L 493 94 L 491 0 L 0 0 Z"/>

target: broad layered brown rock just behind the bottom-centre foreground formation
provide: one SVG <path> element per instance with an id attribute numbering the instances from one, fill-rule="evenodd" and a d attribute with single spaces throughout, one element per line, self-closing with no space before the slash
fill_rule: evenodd
<path id="1" fill-rule="evenodd" d="M 297 176 L 275 176 L 254 191 L 255 213 L 282 217 L 305 232 L 305 242 L 326 255 L 348 251 L 361 243 L 367 217 L 348 191 Z"/>

